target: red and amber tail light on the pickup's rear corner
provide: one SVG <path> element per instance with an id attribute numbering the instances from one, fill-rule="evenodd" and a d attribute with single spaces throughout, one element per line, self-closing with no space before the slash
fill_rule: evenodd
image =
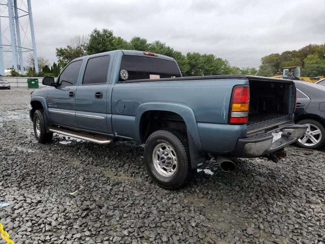
<path id="1" fill-rule="evenodd" d="M 249 86 L 237 85 L 233 89 L 229 123 L 244 125 L 248 121 Z"/>

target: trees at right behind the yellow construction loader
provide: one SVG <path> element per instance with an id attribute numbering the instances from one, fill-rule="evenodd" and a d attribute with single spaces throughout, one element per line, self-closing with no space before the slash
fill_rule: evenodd
<path id="1" fill-rule="evenodd" d="M 272 53 L 262 57 L 258 75 L 273 76 L 283 67 L 302 67 L 301 76 L 325 75 L 325 44 L 309 44 L 299 50 Z"/>

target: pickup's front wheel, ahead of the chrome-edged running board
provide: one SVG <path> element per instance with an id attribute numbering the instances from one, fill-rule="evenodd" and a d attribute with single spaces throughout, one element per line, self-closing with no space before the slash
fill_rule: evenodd
<path id="1" fill-rule="evenodd" d="M 36 110 L 33 117 L 33 124 L 34 124 L 34 134 L 36 139 L 40 143 L 49 143 L 52 141 L 53 133 L 47 133 L 45 127 L 45 120 L 42 110 Z M 39 122 L 39 127 L 38 126 Z"/>

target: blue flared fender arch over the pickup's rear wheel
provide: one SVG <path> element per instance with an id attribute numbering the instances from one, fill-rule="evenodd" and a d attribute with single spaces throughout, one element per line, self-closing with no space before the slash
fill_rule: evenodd
<path id="1" fill-rule="evenodd" d="M 143 113 L 147 111 L 168 111 L 174 112 L 180 115 L 183 120 L 185 121 L 185 125 L 187 127 L 187 131 L 190 133 L 193 141 L 196 145 L 197 150 L 201 150 L 201 141 L 197 126 L 196 117 L 191 108 L 177 103 L 158 103 L 158 102 L 150 102 L 150 103 L 143 103 L 138 107 L 136 113 L 136 121 L 135 121 L 135 139 L 141 142 L 140 136 L 140 123 L 141 117 Z"/>

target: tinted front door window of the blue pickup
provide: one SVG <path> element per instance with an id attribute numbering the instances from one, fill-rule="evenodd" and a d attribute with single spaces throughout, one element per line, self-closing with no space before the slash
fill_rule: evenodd
<path id="1" fill-rule="evenodd" d="M 82 65 L 82 60 L 77 60 L 70 63 L 66 69 L 64 69 L 59 77 L 58 84 L 60 85 L 76 85 L 78 81 L 78 76 L 80 68 Z"/>

